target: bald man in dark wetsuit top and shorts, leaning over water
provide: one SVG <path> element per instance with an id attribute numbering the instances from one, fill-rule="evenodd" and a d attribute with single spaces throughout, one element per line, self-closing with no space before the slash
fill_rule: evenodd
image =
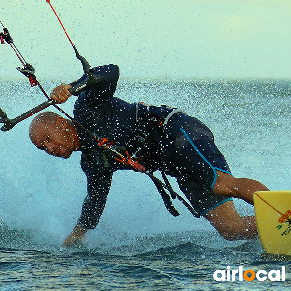
<path id="1" fill-rule="evenodd" d="M 210 129 L 198 119 L 166 106 L 130 104 L 113 97 L 119 78 L 116 65 L 94 68 L 98 83 L 82 92 L 75 103 L 74 118 L 86 129 L 123 146 L 139 157 L 146 169 L 164 171 L 177 178 L 180 189 L 199 216 L 205 217 L 228 240 L 257 236 L 254 216 L 240 216 L 232 197 L 253 203 L 253 193 L 268 190 L 258 181 L 235 178 Z M 64 103 L 69 88 L 84 81 L 56 87 L 51 98 Z M 32 143 L 50 155 L 67 159 L 81 150 L 81 168 L 88 194 L 73 232 L 63 246 L 81 240 L 94 229 L 102 215 L 113 172 L 131 169 L 98 146 L 87 132 L 53 112 L 37 115 L 29 128 Z M 139 146 L 139 137 L 145 137 Z"/>

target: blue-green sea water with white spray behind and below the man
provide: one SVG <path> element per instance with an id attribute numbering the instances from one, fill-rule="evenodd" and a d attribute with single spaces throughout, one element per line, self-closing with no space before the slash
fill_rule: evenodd
<path id="1" fill-rule="evenodd" d="M 44 80 L 50 92 L 62 80 Z M 236 177 L 291 189 L 291 85 L 284 80 L 121 79 L 115 96 L 183 109 L 212 129 Z M 25 80 L 0 80 L 0 107 L 14 118 L 45 101 Z M 72 114 L 75 97 L 61 107 Z M 55 111 L 54 108 L 49 110 Z M 64 160 L 37 150 L 32 118 L 0 132 L 0 291 L 288 290 L 290 258 L 264 254 L 259 240 L 222 239 L 204 218 L 172 217 L 146 175 L 119 171 L 95 230 L 62 249 L 86 196 L 80 153 Z M 170 179 L 179 191 L 175 179 Z M 241 215 L 253 207 L 235 200 Z M 285 281 L 221 281 L 215 270 L 286 267 Z"/>

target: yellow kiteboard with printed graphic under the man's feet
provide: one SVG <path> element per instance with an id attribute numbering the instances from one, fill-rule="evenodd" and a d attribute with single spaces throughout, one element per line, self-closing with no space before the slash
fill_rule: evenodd
<path id="1" fill-rule="evenodd" d="M 254 207 L 263 249 L 291 255 L 291 191 L 255 192 Z"/>

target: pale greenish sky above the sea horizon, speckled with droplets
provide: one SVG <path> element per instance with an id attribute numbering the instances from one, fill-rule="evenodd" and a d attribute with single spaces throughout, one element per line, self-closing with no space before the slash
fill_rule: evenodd
<path id="1" fill-rule="evenodd" d="M 116 64 L 124 78 L 291 79 L 290 0 L 51 4 L 90 65 Z M 81 76 L 81 63 L 46 0 L 5 1 L 0 20 L 39 80 Z M 0 56 L 0 78 L 25 78 L 8 44 L 0 45 Z"/>

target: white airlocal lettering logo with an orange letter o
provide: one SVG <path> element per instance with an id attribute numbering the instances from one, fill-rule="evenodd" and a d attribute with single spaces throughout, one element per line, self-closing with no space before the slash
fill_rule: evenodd
<path id="1" fill-rule="evenodd" d="M 237 276 L 238 275 L 238 276 Z M 253 281 L 255 278 L 259 281 L 265 281 L 269 278 L 270 281 L 285 281 L 285 267 L 282 267 L 280 270 L 271 270 L 269 272 L 265 270 L 259 270 L 256 273 L 253 270 L 242 271 L 242 266 L 239 267 L 239 270 L 230 270 L 230 267 L 227 267 L 227 270 L 216 270 L 213 274 L 213 278 L 216 281 L 242 281 L 242 278 L 246 281 Z"/>

